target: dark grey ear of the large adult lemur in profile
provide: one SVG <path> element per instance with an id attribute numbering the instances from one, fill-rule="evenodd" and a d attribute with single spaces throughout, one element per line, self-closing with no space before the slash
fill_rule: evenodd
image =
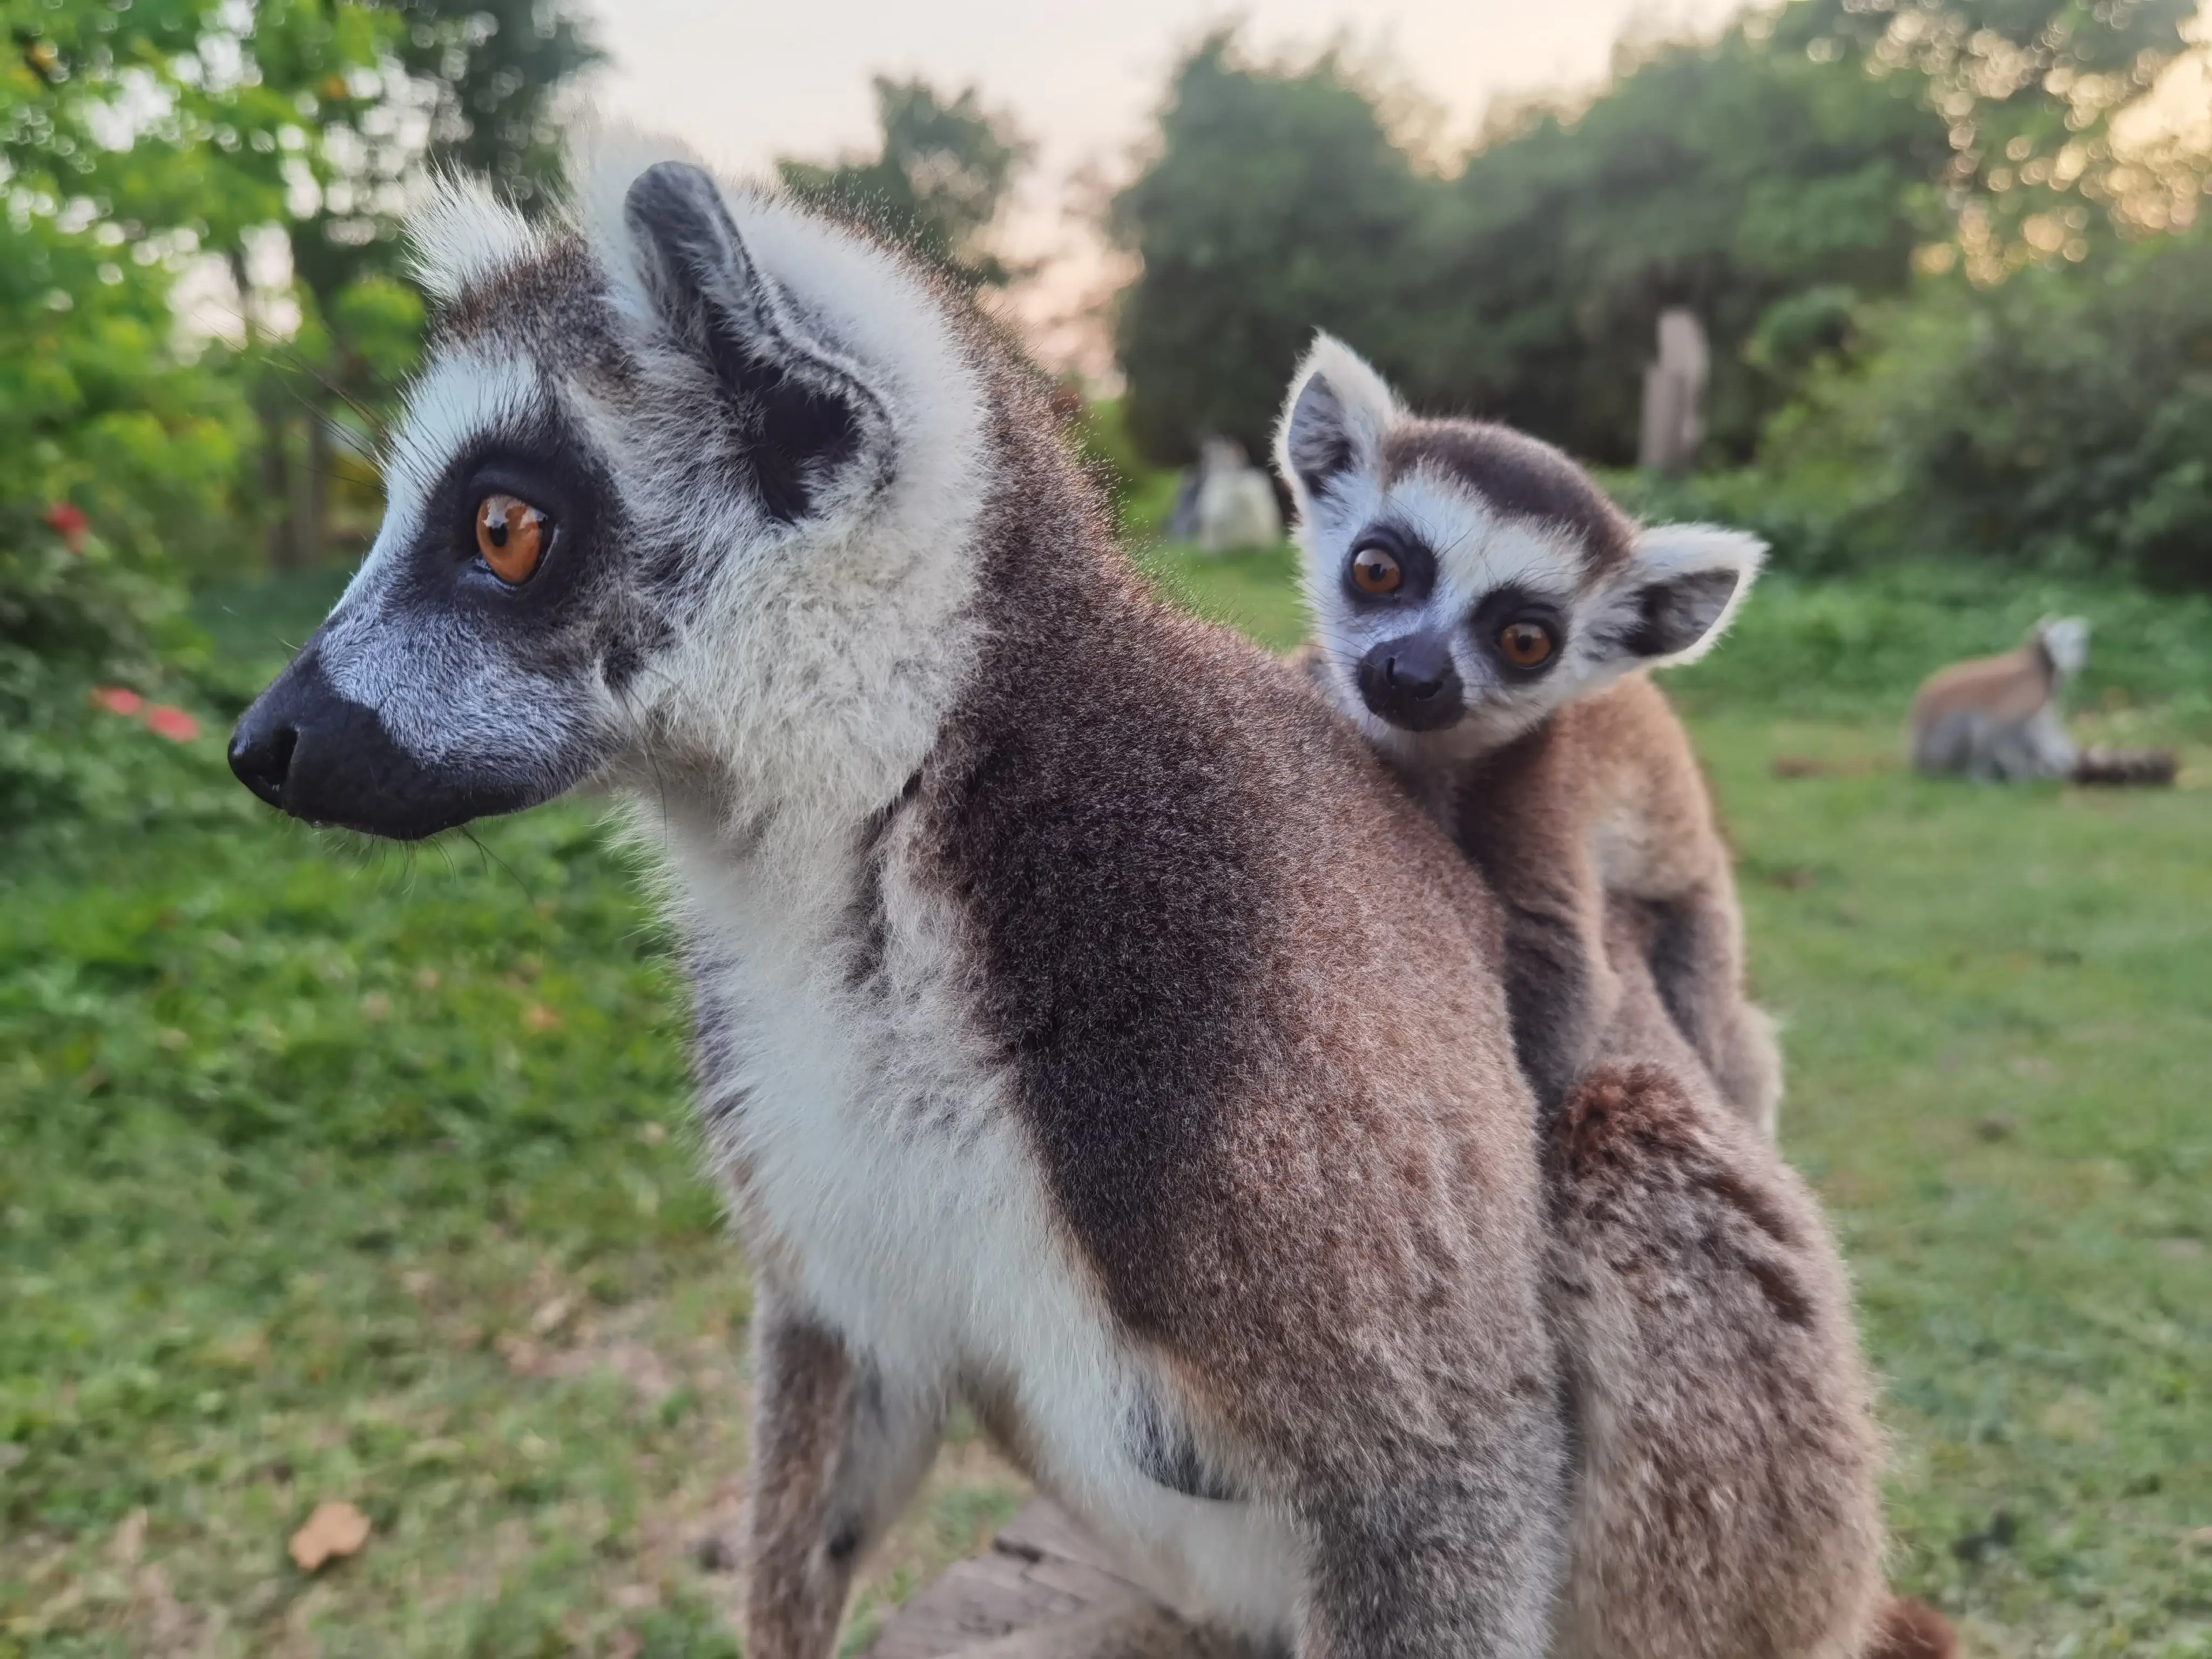
<path id="1" fill-rule="evenodd" d="M 622 217 L 661 323 L 732 398 L 737 460 L 770 518 L 799 522 L 854 462 L 883 465 L 883 400 L 799 323 L 712 177 L 659 161 L 630 184 Z"/>

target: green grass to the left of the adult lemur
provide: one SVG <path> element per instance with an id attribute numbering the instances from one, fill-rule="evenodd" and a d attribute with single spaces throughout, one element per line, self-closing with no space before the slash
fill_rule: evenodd
<path id="1" fill-rule="evenodd" d="M 210 697 L 334 586 L 204 597 Z M 135 737 L 179 810 L 0 827 L 0 1659 L 734 1655 L 695 1546 L 734 1522 L 750 1287 L 628 860 L 577 807 L 365 856 L 217 737 Z M 973 1453 L 863 1617 L 1006 1513 Z M 376 1531 L 310 1579 L 323 1498 Z M 108 1588 L 137 1509 L 186 1626 Z"/>

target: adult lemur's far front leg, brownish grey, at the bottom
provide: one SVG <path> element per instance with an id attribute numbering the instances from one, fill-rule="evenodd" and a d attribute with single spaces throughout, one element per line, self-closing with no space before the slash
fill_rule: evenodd
<path id="1" fill-rule="evenodd" d="M 748 1659 L 827 1659 L 854 1568 L 929 1469 L 942 1402 L 887 1383 L 785 1294 L 754 1312 Z"/>

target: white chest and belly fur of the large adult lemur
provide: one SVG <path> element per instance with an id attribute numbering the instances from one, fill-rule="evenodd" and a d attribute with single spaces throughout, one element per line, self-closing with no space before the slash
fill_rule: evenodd
<path id="1" fill-rule="evenodd" d="M 748 860 L 752 863 L 752 860 Z M 1139 1365 L 1051 1197 L 1006 1068 L 967 1009 L 947 900 L 883 878 L 883 960 L 852 984 L 856 872 L 768 880 L 677 856 L 697 956 L 701 1108 L 745 1170 L 792 1292 L 887 1376 L 1011 1389 L 1031 1475 L 1190 1613 L 1287 1635 L 1287 1524 L 1137 1464 Z"/>

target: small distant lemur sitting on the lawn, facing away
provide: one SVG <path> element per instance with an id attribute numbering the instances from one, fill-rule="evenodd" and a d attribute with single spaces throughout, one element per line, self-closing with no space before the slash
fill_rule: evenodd
<path id="1" fill-rule="evenodd" d="M 1913 765 L 1975 783 L 2172 783 L 2172 750 L 2075 748 L 2059 697 L 2086 666 L 2088 622 L 2046 617 L 2020 650 L 1929 675 L 1907 726 Z"/>

